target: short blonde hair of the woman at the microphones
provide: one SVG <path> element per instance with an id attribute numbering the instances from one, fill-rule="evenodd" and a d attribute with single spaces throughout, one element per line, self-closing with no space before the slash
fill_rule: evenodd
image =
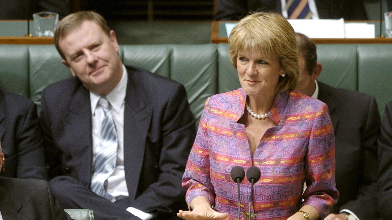
<path id="1" fill-rule="evenodd" d="M 239 52 L 257 50 L 276 55 L 285 77 L 279 77 L 278 92 L 293 90 L 298 85 L 298 54 L 294 29 L 277 13 L 258 12 L 242 18 L 229 36 L 230 61 L 237 69 Z"/>

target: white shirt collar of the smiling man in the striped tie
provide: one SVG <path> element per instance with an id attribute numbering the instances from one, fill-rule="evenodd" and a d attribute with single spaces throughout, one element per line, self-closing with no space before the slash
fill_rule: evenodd
<path id="1" fill-rule="evenodd" d="M 127 69 L 123 65 L 123 75 L 120 79 L 120 82 L 113 88 L 109 94 L 106 95 L 107 101 L 109 101 L 110 105 L 117 113 L 120 112 L 121 106 L 123 105 L 125 95 L 127 94 Z M 91 114 L 95 114 L 95 109 L 98 104 L 99 99 L 101 98 L 100 95 L 95 94 L 90 91 L 90 103 L 91 103 Z"/>

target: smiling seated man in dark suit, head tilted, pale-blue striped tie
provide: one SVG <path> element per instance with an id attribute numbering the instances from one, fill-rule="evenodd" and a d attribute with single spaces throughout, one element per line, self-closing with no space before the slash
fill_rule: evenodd
<path id="1" fill-rule="evenodd" d="M 186 207 L 181 177 L 195 138 L 183 85 L 125 67 L 114 31 L 97 13 L 65 17 L 54 39 L 74 76 L 42 92 L 60 204 L 92 209 L 98 220 L 176 218 Z"/>

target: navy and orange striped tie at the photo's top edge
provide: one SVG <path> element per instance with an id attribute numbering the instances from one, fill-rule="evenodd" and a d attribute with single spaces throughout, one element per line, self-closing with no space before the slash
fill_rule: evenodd
<path id="1" fill-rule="evenodd" d="M 312 18 L 308 0 L 287 0 L 286 9 L 289 19 Z"/>

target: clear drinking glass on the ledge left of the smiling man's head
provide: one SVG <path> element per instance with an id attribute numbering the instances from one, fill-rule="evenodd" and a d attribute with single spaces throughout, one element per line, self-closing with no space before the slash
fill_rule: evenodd
<path id="1" fill-rule="evenodd" d="M 35 35 L 38 37 L 53 37 L 58 23 L 58 14 L 42 11 L 33 14 Z"/>

